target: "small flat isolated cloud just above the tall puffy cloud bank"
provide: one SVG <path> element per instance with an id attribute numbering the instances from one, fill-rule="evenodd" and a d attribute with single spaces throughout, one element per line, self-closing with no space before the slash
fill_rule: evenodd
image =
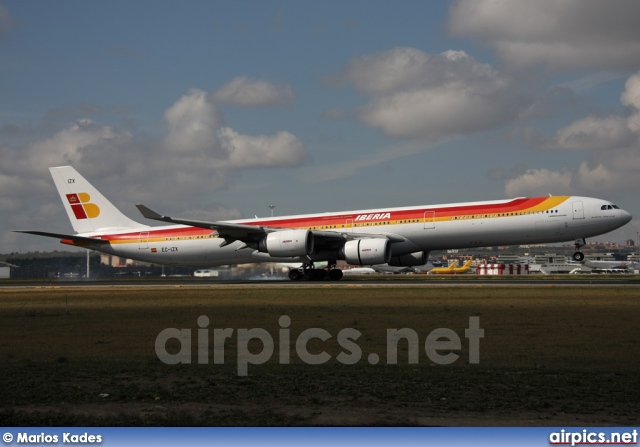
<path id="1" fill-rule="evenodd" d="M 280 106 L 290 107 L 295 100 L 293 90 L 286 84 L 272 84 L 246 76 L 233 78 L 213 94 L 219 103 L 242 107 Z"/>

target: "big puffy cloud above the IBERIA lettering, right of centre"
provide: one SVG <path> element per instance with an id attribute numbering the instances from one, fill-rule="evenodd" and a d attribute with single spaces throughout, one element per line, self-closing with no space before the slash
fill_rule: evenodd
<path id="1" fill-rule="evenodd" d="M 505 125 L 530 106 L 512 81 L 464 51 L 395 48 L 352 60 L 342 78 L 370 96 L 361 122 L 436 141 Z"/>

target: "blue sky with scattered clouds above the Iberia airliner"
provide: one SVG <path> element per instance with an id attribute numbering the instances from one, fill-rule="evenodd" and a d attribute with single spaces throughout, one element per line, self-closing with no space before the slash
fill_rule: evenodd
<path id="1" fill-rule="evenodd" d="M 640 2 L 0 0 L 0 253 L 48 167 L 197 219 L 577 194 L 640 231 Z"/>

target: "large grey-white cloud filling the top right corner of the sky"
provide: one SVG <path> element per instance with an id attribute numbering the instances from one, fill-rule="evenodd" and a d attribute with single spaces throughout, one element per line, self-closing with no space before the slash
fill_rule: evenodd
<path id="1" fill-rule="evenodd" d="M 459 0 L 448 28 L 479 38 L 509 66 L 552 70 L 640 66 L 640 2 Z"/>

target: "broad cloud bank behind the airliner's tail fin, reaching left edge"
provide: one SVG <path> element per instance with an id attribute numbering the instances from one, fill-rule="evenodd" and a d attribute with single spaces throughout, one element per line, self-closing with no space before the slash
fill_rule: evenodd
<path id="1" fill-rule="evenodd" d="M 243 135 L 224 123 L 212 95 L 192 89 L 163 114 L 167 134 L 141 141 L 128 131 L 80 119 L 23 146 L 0 146 L 0 211 L 15 229 L 70 231 L 57 202 L 50 166 L 72 165 L 116 206 L 138 221 L 133 204 L 148 203 L 176 215 L 206 219 L 240 218 L 237 209 L 211 202 L 211 193 L 227 188 L 243 170 L 291 168 L 307 159 L 302 140 L 287 131 Z M 203 205 L 203 201 L 207 205 Z M 44 203 L 54 206 L 44 214 Z M 205 217 L 206 216 L 206 217 Z M 0 239 L 13 251 L 24 236 Z M 33 247 L 42 247 L 33 240 Z M 6 248 L 11 246 L 13 248 Z M 21 242 L 22 248 L 27 245 Z"/>

